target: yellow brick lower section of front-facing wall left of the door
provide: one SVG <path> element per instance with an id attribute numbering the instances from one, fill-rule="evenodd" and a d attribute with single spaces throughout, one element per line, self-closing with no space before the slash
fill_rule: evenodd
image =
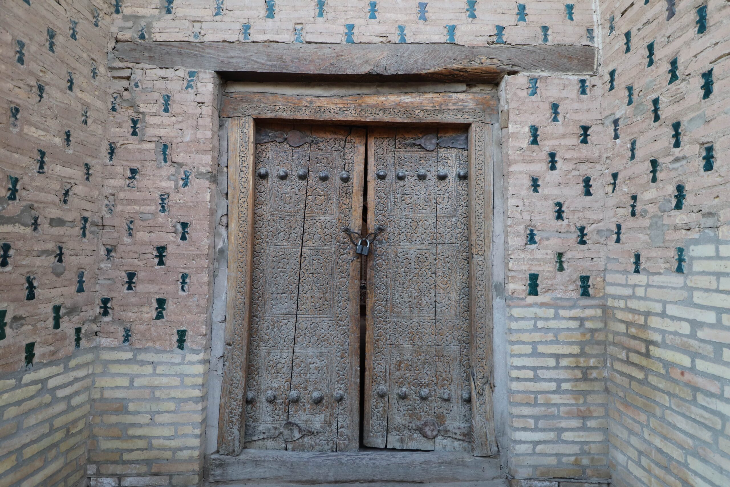
<path id="1" fill-rule="evenodd" d="M 199 482 L 209 361 L 199 350 L 99 350 L 89 442 L 93 486 L 136 485 L 134 478 L 147 475 L 163 475 L 174 486 Z"/>

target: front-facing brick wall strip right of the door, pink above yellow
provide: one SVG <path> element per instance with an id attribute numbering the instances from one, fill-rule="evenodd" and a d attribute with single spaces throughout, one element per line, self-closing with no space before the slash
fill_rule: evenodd
<path id="1" fill-rule="evenodd" d="M 517 479 L 606 479 L 601 224 L 612 186 L 601 157 L 602 88 L 591 78 L 529 75 L 507 77 L 500 88 L 509 473 L 515 486 L 531 485 Z M 587 144 L 580 126 L 591 127 Z"/>

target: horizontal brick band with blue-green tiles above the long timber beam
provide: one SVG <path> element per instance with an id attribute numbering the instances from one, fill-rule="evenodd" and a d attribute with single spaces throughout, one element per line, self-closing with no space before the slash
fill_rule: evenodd
<path id="1" fill-rule="evenodd" d="M 593 3 L 572 1 L 120 1 L 118 41 L 595 44 Z M 521 5 L 521 7 L 518 6 Z M 520 13 L 521 12 L 521 13 Z M 591 29 L 591 31 L 588 31 Z M 498 35 L 499 32 L 499 35 Z"/>

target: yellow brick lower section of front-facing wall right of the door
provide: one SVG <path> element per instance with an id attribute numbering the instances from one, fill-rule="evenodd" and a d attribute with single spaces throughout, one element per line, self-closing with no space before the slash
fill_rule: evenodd
<path id="1" fill-rule="evenodd" d="M 608 478 L 602 299 L 509 304 L 510 475 Z"/>

